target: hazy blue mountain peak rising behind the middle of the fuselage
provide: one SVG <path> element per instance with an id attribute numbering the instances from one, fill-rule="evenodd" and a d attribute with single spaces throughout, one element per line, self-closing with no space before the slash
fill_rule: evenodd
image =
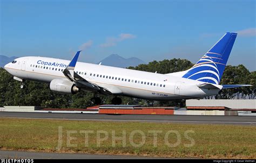
<path id="1" fill-rule="evenodd" d="M 107 56 L 107 58 L 103 59 L 102 65 L 105 66 L 113 66 L 113 67 L 129 67 L 129 66 L 138 66 L 139 64 L 144 64 L 145 62 L 143 60 L 140 60 L 136 57 L 125 59 L 122 56 L 119 56 L 118 54 L 111 54 L 110 56 Z M 98 62 L 98 64 L 100 63 Z"/>

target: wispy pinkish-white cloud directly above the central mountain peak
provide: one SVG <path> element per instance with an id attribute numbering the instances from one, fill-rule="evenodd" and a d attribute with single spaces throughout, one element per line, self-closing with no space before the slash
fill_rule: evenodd
<path id="1" fill-rule="evenodd" d="M 117 42 L 126 40 L 126 39 L 133 39 L 136 38 L 135 35 L 130 34 L 130 33 L 121 33 L 119 34 L 118 37 L 110 37 L 106 38 L 106 42 L 103 44 L 100 44 L 100 47 L 111 47 L 111 46 L 116 46 Z"/>

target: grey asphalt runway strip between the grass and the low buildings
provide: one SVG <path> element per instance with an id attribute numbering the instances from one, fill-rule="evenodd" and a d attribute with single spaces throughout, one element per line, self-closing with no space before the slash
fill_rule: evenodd
<path id="1" fill-rule="evenodd" d="M 42 112 L 0 112 L 0 117 L 29 119 L 66 119 L 78 121 L 112 122 L 157 122 L 189 124 L 232 124 L 255 125 L 255 116 L 190 116 L 190 115 L 104 115 L 104 114 L 64 114 Z"/>

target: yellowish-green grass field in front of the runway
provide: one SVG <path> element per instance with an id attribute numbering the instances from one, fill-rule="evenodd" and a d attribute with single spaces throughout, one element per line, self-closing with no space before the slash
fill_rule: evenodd
<path id="1" fill-rule="evenodd" d="M 256 158 L 256 126 L 0 118 L 0 129 L 2 150 Z"/>

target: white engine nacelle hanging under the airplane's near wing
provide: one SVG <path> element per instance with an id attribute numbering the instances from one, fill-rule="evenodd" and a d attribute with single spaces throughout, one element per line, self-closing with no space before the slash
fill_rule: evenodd
<path id="1" fill-rule="evenodd" d="M 79 91 L 74 83 L 62 79 L 53 79 L 50 83 L 50 89 L 63 94 L 76 94 Z"/>

